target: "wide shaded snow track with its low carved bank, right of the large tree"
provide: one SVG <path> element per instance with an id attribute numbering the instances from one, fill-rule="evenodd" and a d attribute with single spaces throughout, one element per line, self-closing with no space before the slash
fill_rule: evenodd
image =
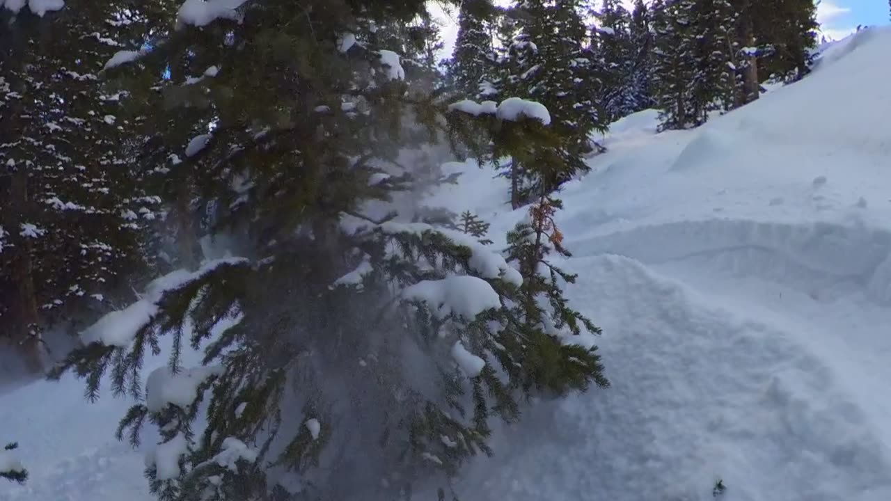
<path id="1" fill-rule="evenodd" d="M 504 431 L 462 498 L 891 499 L 891 235 L 711 220 L 568 247 L 613 387 Z"/>

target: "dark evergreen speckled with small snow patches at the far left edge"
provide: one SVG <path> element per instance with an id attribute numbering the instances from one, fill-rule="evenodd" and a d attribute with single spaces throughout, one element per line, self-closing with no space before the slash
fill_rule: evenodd
<path id="1" fill-rule="evenodd" d="M 0 144 L 0 291 L 9 298 L 0 316 L 33 370 L 46 327 L 91 321 L 91 310 L 129 291 L 123 272 L 140 263 L 140 221 L 151 215 L 129 191 L 120 95 L 96 84 L 116 50 L 113 5 L 88 7 L 77 16 L 0 8 L 0 136 L 9 138 Z"/>

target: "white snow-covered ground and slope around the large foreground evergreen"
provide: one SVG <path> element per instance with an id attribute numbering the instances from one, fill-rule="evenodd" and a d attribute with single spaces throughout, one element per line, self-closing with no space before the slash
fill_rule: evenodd
<path id="1" fill-rule="evenodd" d="M 727 501 L 891 499 L 889 50 L 868 29 L 705 127 L 612 127 L 558 223 L 613 387 L 498 429 L 461 499 L 697 501 L 719 479 Z M 449 168 L 462 183 L 431 204 L 495 240 L 522 217 L 491 170 Z M 0 500 L 151 499 L 143 452 L 111 436 L 128 403 L 82 395 L 69 378 L 0 395 L 0 441 L 31 473 Z"/>

